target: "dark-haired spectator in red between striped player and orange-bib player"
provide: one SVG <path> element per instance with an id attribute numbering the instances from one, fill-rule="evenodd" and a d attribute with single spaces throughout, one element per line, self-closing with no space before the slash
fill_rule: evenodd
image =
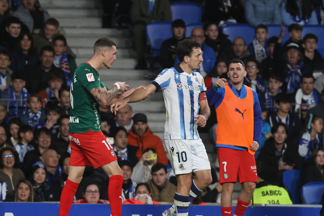
<path id="1" fill-rule="evenodd" d="M 227 64 L 226 59 L 219 58 L 215 63 L 214 69 L 207 74 L 204 79 L 207 91 L 214 85 L 214 83 L 220 78 L 222 74 L 226 73 L 227 76 Z"/>

